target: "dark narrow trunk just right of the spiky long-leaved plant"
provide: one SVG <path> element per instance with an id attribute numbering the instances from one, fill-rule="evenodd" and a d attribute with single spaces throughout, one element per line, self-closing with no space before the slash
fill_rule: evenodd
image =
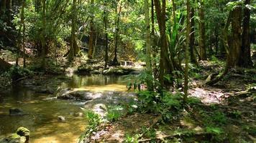
<path id="1" fill-rule="evenodd" d="M 190 48 L 190 54 L 191 54 L 191 63 L 193 64 L 197 64 L 196 61 L 196 55 L 194 53 L 194 49 L 195 49 L 195 9 L 192 7 L 191 8 L 191 12 L 190 12 L 190 19 L 191 19 L 191 26 L 189 29 L 189 33 L 190 33 L 190 40 L 189 40 L 189 48 Z"/>

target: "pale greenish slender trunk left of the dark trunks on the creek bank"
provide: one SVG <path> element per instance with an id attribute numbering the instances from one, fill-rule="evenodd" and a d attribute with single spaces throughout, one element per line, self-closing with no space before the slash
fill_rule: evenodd
<path id="1" fill-rule="evenodd" d="M 144 1 L 145 9 L 145 39 L 146 39 L 146 64 L 147 64 L 147 74 L 152 77 L 152 67 L 151 67 L 151 39 L 150 39 L 150 11 L 148 0 Z M 152 90 L 152 78 L 147 78 L 147 89 Z"/>

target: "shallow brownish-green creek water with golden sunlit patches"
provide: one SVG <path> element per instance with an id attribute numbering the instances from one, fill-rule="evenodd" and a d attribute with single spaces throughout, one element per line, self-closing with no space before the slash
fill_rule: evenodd
<path id="1" fill-rule="evenodd" d="M 55 78 L 50 79 L 52 83 Z M 60 82 L 58 87 L 81 88 L 88 91 L 126 91 L 126 77 L 102 75 L 77 76 Z M 30 142 L 60 143 L 76 142 L 86 128 L 86 119 L 73 114 L 82 112 L 83 102 L 49 99 L 50 94 L 39 94 L 29 87 L 14 86 L 1 95 L 0 99 L 0 136 L 16 131 L 18 127 L 27 127 Z M 22 109 L 27 115 L 9 116 L 10 108 Z M 59 122 L 58 116 L 65 117 Z"/>

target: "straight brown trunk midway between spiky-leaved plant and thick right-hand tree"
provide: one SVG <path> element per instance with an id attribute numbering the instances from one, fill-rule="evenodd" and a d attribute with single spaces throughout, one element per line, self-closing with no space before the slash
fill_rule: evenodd
<path id="1" fill-rule="evenodd" d="M 199 47 L 201 60 L 206 60 L 206 30 L 205 30 L 205 21 L 204 21 L 204 1 L 200 1 L 199 7 Z"/>

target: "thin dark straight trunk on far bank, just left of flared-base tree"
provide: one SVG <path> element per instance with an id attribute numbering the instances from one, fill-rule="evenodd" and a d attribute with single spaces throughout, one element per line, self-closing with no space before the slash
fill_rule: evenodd
<path id="1" fill-rule="evenodd" d="M 107 31 L 107 28 L 108 28 L 108 17 L 107 17 L 107 14 L 106 14 L 106 0 L 104 0 L 104 18 L 103 18 L 103 21 L 104 21 L 104 30 L 105 30 L 105 65 L 104 65 L 104 68 L 106 69 L 106 67 L 108 66 L 108 61 L 109 61 L 109 38 L 108 38 L 108 31 Z"/>

